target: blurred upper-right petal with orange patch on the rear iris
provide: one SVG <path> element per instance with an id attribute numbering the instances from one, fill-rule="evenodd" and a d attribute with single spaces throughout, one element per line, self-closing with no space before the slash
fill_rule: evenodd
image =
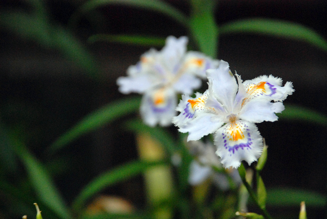
<path id="1" fill-rule="evenodd" d="M 185 55 L 181 68 L 185 74 L 197 75 L 206 79 L 206 70 L 217 68 L 219 63 L 219 60 L 211 59 L 203 53 L 189 51 Z"/>

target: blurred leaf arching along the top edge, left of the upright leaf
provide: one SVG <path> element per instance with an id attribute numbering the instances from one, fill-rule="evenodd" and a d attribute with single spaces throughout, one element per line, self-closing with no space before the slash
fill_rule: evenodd
<path id="1" fill-rule="evenodd" d="M 158 0 L 91 0 L 82 5 L 72 15 L 69 22 L 70 26 L 72 27 L 72 25 L 77 22 L 82 14 L 92 11 L 98 7 L 113 4 L 157 11 L 175 19 L 184 27 L 188 27 L 188 18 L 183 13 L 178 11 L 176 8 L 173 8 L 169 4 Z"/>

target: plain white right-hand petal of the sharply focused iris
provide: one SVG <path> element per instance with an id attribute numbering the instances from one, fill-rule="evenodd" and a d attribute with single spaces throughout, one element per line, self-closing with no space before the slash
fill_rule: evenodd
<path id="1" fill-rule="evenodd" d="M 251 123 L 277 121 L 278 116 L 275 113 L 280 113 L 284 109 L 285 107 L 281 102 L 271 103 L 263 99 L 254 99 L 243 106 L 238 118 Z"/>

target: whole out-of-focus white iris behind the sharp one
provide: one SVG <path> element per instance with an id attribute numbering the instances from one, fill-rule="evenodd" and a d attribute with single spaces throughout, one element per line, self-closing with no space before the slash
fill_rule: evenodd
<path id="1" fill-rule="evenodd" d="M 177 93 L 191 94 L 201 86 L 205 71 L 216 68 L 212 60 L 199 52 L 186 52 L 187 37 L 169 36 L 161 51 L 152 48 L 137 65 L 127 69 L 128 77 L 117 80 L 119 91 L 142 93 L 141 116 L 149 126 L 168 126 L 176 115 Z"/>

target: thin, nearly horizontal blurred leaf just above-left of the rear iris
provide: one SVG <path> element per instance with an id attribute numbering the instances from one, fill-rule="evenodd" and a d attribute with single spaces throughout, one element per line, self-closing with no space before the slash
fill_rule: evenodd
<path id="1" fill-rule="evenodd" d="M 144 46 L 164 46 L 165 38 L 148 37 L 148 36 L 129 36 L 129 35 L 110 35 L 110 34 L 96 34 L 89 37 L 88 41 L 91 43 L 97 41 L 118 42 L 132 45 Z"/>

